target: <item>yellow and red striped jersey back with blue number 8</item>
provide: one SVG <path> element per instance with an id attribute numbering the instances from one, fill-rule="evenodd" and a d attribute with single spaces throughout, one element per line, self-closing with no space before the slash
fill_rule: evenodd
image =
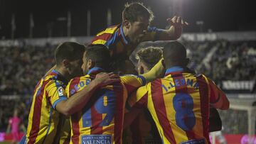
<path id="1" fill-rule="evenodd" d="M 147 107 L 164 143 L 210 143 L 205 76 L 174 72 L 148 87 Z"/>

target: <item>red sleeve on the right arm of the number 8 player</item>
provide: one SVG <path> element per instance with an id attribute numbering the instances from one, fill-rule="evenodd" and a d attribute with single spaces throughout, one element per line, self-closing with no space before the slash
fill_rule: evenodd
<path id="1" fill-rule="evenodd" d="M 225 93 L 215 83 L 208 79 L 210 91 L 210 104 L 218 109 L 228 109 L 229 101 Z"/>

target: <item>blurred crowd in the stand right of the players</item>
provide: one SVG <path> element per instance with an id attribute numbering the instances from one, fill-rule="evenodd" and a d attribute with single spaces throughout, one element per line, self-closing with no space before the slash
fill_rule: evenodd
<path id="1" fill-rule="evenodd" d="M 186 42 L 190 67 L 217 84 L 222 80 L 256 79 L 256 41 Z"/>

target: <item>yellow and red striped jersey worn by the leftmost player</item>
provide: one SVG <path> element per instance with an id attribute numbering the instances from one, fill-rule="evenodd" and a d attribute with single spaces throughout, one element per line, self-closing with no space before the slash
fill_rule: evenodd
<path id="1" fill-rule="evenodd" d="M 56 70 L 38 82 L 28 116 L 26 143 L 59 143 L 64 117 L 55 106 L 67 99 L 66 84 L 68 81 Z"/>

